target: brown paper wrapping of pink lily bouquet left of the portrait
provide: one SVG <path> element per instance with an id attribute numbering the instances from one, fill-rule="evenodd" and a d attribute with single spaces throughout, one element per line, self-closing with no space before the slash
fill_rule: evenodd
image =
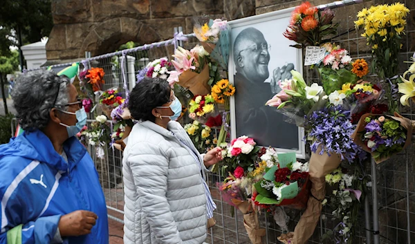
<path id="1" fill-rule="evenodd" d="M 210 93 L 209 66 L 205 65 L 200 74 L 185 71 L 178 77 L 178 84 L 188 88 L 194 95 L 208 95 Z"/>

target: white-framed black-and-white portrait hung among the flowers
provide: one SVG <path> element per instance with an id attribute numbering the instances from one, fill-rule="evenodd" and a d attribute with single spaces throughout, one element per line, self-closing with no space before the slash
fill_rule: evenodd
<path id="1" fill-rule="evenodd" d="M 266 106 L 281 91 L 278 81 L 302 73 L 302 50 L 283 32 L 294 8 L 228 22 L 230 25 L 229 79 L 236 88 L 230 100 L 231 136 L 247 135 L 259 146 L 295 151 L 305 158 L 304 129 L 286 122 L 277 108 Z"/>

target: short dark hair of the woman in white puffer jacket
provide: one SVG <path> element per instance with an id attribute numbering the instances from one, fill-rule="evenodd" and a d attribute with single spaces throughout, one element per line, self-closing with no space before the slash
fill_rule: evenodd
<path id="1" fill-rule="evenodd" d="M 151 111 L 156 106 L 169 102 L 171 88 L 165 79 L 145 77 L 136 84 L 129 95 L 128 109 L 134 120 L 149 120 L 156 118 Z"/>

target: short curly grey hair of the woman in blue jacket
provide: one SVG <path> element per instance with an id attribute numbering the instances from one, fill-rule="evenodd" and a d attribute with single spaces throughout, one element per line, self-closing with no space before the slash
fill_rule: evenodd
<path id="1" fill-rule="evenodd" d="M 20 75 L 13 87 L 13 106 L 21 129 L 35 131 L 44 129 L 49 122 L 50 109 L 66 111 L 70 84 L 65 75 L 53 71 L 33 71 Z"/>

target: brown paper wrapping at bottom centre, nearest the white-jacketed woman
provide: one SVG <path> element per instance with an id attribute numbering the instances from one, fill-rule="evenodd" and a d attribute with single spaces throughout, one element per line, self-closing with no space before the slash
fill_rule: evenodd
<path id="1" fill-rule="evenodd" d="M 252 205 L 248 200 L 232 199 L 232 203 L 243 214 L 243 225 L 248 233 L 249 239 L 252 244 L 262 244 L 262 236 L 265 236 L 265 229 L 259 228 L 259 220 L 257 212 L 253 211 Z"/>

